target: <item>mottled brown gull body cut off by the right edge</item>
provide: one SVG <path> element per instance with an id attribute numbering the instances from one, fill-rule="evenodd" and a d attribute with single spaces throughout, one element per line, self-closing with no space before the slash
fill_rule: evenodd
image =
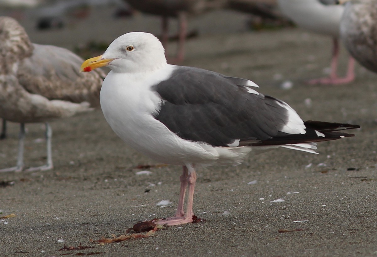
<path id="1" fill-rule="evenodd" d="M 340 21 L 340 39 L 360 64 L 377 72 L 376 0 L 352 0 L 346 3 Z"/>

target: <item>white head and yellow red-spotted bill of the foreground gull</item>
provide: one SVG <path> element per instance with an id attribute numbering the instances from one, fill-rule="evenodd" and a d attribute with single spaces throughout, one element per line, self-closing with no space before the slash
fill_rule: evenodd
<path id="1" fill-rule="evenodd" d="M 81 71 L 108 66 L 117 73 L 138 73 L 164 65 L 165 50 L 158 38 L 146 32 L 130 32 L 116 38 L 103 55 L 84 61 Z"/>

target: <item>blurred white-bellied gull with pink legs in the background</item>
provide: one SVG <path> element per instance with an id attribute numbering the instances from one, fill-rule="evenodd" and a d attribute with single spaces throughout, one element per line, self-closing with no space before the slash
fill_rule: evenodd
<path id="1" fill-rule="evenodd" d="M 308 31 L 328 35 L 333 38 L 331 73 L 327 78 L 310 80 L 310 84 L 343 84 L 354 80 L 355 60 L 350 57 L 347 75 L 337 75 L 339 58 L 339 28 L 344 6 L 337 5 L 337 0 L 278 0 L 281 11 L 300 27 Z"/>

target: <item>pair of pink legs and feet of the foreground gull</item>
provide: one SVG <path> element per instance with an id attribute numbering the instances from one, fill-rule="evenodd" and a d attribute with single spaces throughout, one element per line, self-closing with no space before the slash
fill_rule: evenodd
<path id="1" fill-rule="evenodd" d="M 186 175 L 187 174 L 187 175 Z M 183 182 L 183 178 L 185 178 L 186 182 Z M 174 225 L 182 225 L 186 223 L 192 222 L 192 216 L 194 215 L 192 211 L 193 207 L 193 200 L 194 200 L 194 190 L 195 190 L 195 183 L 196 183 L 196 171 L 195 168 L 191 165 L 187 165 L 183 167 L 183 174 L 181 176 L 181 192 L 179 194 L 179 203 L 175 217 L 170 217 L 162 220 L 158 220 L 157 223 L 161 225 L 167 226 L 174 226 Z M 186 213 L 183 215 L 183 200 L 184 194 L 182 197 L 182 191 L 184 193 L 185 185 L 188 185 L 188 196 L 187 196 L 187 210 Z M 182 205 L 182 206 L 180 206 Z"/>

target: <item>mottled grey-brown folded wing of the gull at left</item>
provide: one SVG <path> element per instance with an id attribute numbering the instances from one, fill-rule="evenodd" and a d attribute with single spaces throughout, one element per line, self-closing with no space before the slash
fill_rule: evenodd
<path id="1" fill-rule="evenodd" d="M 101 70 L 80 73 L 84 61 L 71 51 L 33 44 L 31 57 L 20 61 L 17 71 L 19 83 L 29 93 L 48 99 L 70 102 L 90 102 L 99 106 L 99 94 L 105 74 Z"/>

